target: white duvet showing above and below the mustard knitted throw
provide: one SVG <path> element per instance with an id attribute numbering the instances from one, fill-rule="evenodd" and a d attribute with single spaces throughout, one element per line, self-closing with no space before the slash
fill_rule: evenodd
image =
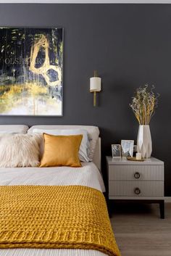
<path id="1" fill-rule="evenodd" d="M 93 162 L 82 168 L 0 168 L 0 186 L 80 185 L 104 192 L 104 181 Z M 0 249 L 0 256 L 106 256 L 88 249 Z"/>

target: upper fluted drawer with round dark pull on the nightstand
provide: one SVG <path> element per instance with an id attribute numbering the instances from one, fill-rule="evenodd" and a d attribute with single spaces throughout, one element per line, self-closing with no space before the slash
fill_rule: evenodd
<path id="1" fill-rule="evenodd" d="M 164 165 L 109 165 L 109 181 L 164 181 Z"/>

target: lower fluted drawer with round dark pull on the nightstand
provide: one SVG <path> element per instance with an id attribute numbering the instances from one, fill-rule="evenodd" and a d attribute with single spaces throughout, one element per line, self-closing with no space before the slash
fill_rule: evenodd
<path id="1" fill-rule="evenodd" d="M 164 197 L 163 181 L 109 181 L 109 197 Z"/>

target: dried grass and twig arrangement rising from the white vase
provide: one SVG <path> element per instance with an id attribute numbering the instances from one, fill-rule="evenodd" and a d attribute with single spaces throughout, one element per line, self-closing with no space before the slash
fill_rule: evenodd
<path id="1" fill-rule="evenodd" d="M 158 105 L 159 94 L 154 94 L 154 86 L 146 84 L 135 91 L 130 107 L 138 120 L 139 125 L 149 125 L 151 117 Z"/>

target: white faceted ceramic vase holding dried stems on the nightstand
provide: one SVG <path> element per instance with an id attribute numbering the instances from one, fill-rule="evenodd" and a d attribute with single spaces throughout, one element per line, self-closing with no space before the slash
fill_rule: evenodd
<path id="1" fill-rule="evenodd" d="M 137 152 L 141 153 L 143 158 L 151 157 L 152 141 L 149 125 L 140 125 L 138 128 Z"/>

